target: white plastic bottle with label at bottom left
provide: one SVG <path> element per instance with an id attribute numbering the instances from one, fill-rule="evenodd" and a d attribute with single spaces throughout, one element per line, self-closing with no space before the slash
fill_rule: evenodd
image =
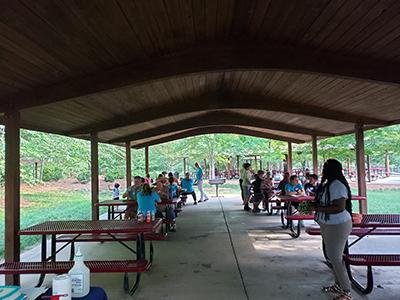
<path id="1" fill-rule="evenodd" d="M 74 266 L 68 272 L 71 277 L 72 297 L 81 298 L 90 292 L 90 270 L 83 262 L 80 247 L 76 250 L 74 261 Z"/>

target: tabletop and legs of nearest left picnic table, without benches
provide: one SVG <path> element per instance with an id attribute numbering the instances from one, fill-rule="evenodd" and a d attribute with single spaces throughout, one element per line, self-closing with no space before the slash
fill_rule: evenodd
<path id="1" fill-rule="evenodd" d="M 161 226 L 162 220 L 156 219 L 151 223 L 139 223 L 137 220 L 74 220 L 74 221 L 46 221 L 37 225 L 30 226 L 18 232 L 18 235 L 41 235 L 41 262 L 56 261 L 57 253 L 67 247 L 71 242 L 66 243 L 60 249 L 56 249 L 56 235 L 75 234 L 76 238 L 82 234 L 109 234 L 113 236 L 116 242 L 128 248 L 136 254 L 137 261 L 145 259 L 145 239 L 144 233 L 155 232 Z M 136 250 L 126 245 L 123 241 L 118 240 L 117 234 L 137 234 Z M 51 254 L 47 256 L 47 236 L 51 236 Z M 152 245 L 151 245 L 152 246 Z M 152 251 L 152 249 L 150 249 Z M 114 261 L 108 261 L 111 266 Z M 118 261 L 115 261 L 118 264 Z M 41 274 L 38 285 L 43 283 L 45 274 Z M 137 275 L 137 282 L 134 286 L 136 289 L 140 275 Z M 126 282 L 127 274 L 125 274 L 124 282 Z"/>

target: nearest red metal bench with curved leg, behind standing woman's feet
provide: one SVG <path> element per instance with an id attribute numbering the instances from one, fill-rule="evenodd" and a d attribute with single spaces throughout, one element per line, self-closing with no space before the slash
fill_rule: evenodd
<path id="1" fill-rule="evenodd" d="M 400 254 L 345 254 L 343 256 L 347 266 L 347 273 L 351 282 L 364 294 L 369 294 L 374 288 L 372 267 L 399 267 Z M 367 285 L 362 286 L 351 273 L 350 265 L 367 266 Z"/>

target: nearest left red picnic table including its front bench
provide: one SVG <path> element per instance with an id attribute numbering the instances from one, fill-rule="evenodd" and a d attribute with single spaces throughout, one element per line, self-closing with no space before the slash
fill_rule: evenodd
<path id="1" fill-rule="evenodd" d="M 144 233 L 155 232 L 161 226 L 161 219 L 151 223 L 138 223 L 136 220 L 98 220 L 98 221 L 46 221 L 30 226 L 18 232 L 18 235 L 41 235 L 41 261 L 40 262 L 11 262 L 0 265 L 2 274 L 41 274 L 38 285 L 43 283 L 47 273 L 65 273 L 73 266 L 73 261 L 56 261 L 57 253 L 67 247 L 71 242 L 84 234 L 108 234 L 125 248 L 136 254 L 136 260 L 107 260 L 85 261 L 91 272 L 125 272 L 124 288 L 129 290 L 128 272 L 136 273 L 136 282 L 129 290 L 133 294 L 140 282 L 141 272 L 146 272 L 151 267 L 151 262 L 146 260 Z M 56 235 L 75 234 L 75 238 L 56 249 Z M 136 250 L 118 239 L 118 234 L 136 234 Z M 47 257 L 47 236 L 51 236 L 51 255 Z M 153 247 L 150 244 L 150 255 Z"/>

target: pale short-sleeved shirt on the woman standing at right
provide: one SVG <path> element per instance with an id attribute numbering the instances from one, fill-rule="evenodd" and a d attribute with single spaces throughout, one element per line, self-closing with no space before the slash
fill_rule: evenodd
<path id="1" fill-rule="evenodd" d="M 325 188 L 325 191 L 322 194 L 321 197 L 321 205 L 322 206 L 328 206 L 332 205 L 332 202 L 337 199 L 347 199 L 348 198 L 348 193 L 347 193 L 347 188 L 346 186 L 341 183 L 339 180 L 334 180 L 329 186 L 329 193 L 330 193 L 330 203 L 328 203 L 328 195 L 327 195 L 327 190 Z M 325 213 L 323 212 L 317 212 L 317 222 L 322 223 L 322 224 L 328 224 L 328 225 L 336 225 L 336 224 L 342 224 L 345 222 L 348 222 L 351 220 L 351 215 L 350 213 L 345 209 L 342 212 L 338 214 L 329 214 L 328 220 L 325 220 Z"/>

